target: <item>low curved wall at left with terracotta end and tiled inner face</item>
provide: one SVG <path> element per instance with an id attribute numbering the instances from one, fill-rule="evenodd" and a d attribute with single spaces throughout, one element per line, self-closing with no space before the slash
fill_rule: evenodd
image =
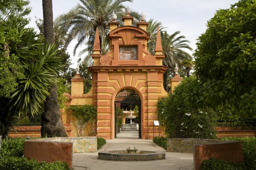
<path id="1" fill-rule="evenodd" d="M 73 153 L 97 151 L 97 137 L 52 137 L 26 140 L 24 156 L 36 161 L 61 161 L 72 168 Z"/>

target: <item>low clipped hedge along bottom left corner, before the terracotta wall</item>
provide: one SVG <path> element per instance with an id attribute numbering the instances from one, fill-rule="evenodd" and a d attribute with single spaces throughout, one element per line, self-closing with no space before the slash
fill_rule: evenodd
<path id="1" fill-rule="evenodd" d="M 0 159 L 1 170 L 70 170 L 67 163 L 60 161 L 56 163 L 37 162 L 35 160 L 28 161 L 26 158 L 18 158 L 13 156 L 4 156 Z"/>

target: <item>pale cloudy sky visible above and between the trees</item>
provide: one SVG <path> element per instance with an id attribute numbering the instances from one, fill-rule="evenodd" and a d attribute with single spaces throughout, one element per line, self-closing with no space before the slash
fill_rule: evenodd
<path id="1" fill-rule="evenodd" d="M 238 0 L 133 0 L 123 3 L 130 9 L 146 15 L 146 20 L 154 19 L 162 23 L 168 34 L 180 31 L 190 41 L 190 47 L 196 49 L 197 38 L 206 31 L 207 21 L 210 20 L 217 10 L 228 9 Z M 52 0 L 53 19 L 60 14 L 67 13 L 75 7 L 79 0 Z M 31 18 L 28 27 L 36 28 L 36 18 L 43 19 L 43 7 L 41 0 L 30 0 L 32 7 L 28 17 Z M 73 56 L 73 47 L 76 41 L 72 41 L 67 48 L 72 59 L 72 68 L 76 68 L 78 53 L 83 48 L 78 48 Z M 186 51 L 193 54 L 193 51 Z M 81 57 L 83 59 L 83 56 Z"/>

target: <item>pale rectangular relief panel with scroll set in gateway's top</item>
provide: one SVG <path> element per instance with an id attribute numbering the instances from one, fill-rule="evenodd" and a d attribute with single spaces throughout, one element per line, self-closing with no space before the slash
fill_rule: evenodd
<path id="1" fill-rule="evenodd" d="M 119 47 L 120 60 L 137 60 L 137 47 Z"/>

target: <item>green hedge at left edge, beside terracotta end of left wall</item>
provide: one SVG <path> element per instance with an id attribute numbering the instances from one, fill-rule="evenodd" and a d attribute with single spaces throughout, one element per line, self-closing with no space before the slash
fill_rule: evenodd
<path id="1" fill-rule="evenodd" d="M 26 138 L 3 139 L 1 144 L 0 158 L 3 156 L 23 156 L 23 147 Z"/>

